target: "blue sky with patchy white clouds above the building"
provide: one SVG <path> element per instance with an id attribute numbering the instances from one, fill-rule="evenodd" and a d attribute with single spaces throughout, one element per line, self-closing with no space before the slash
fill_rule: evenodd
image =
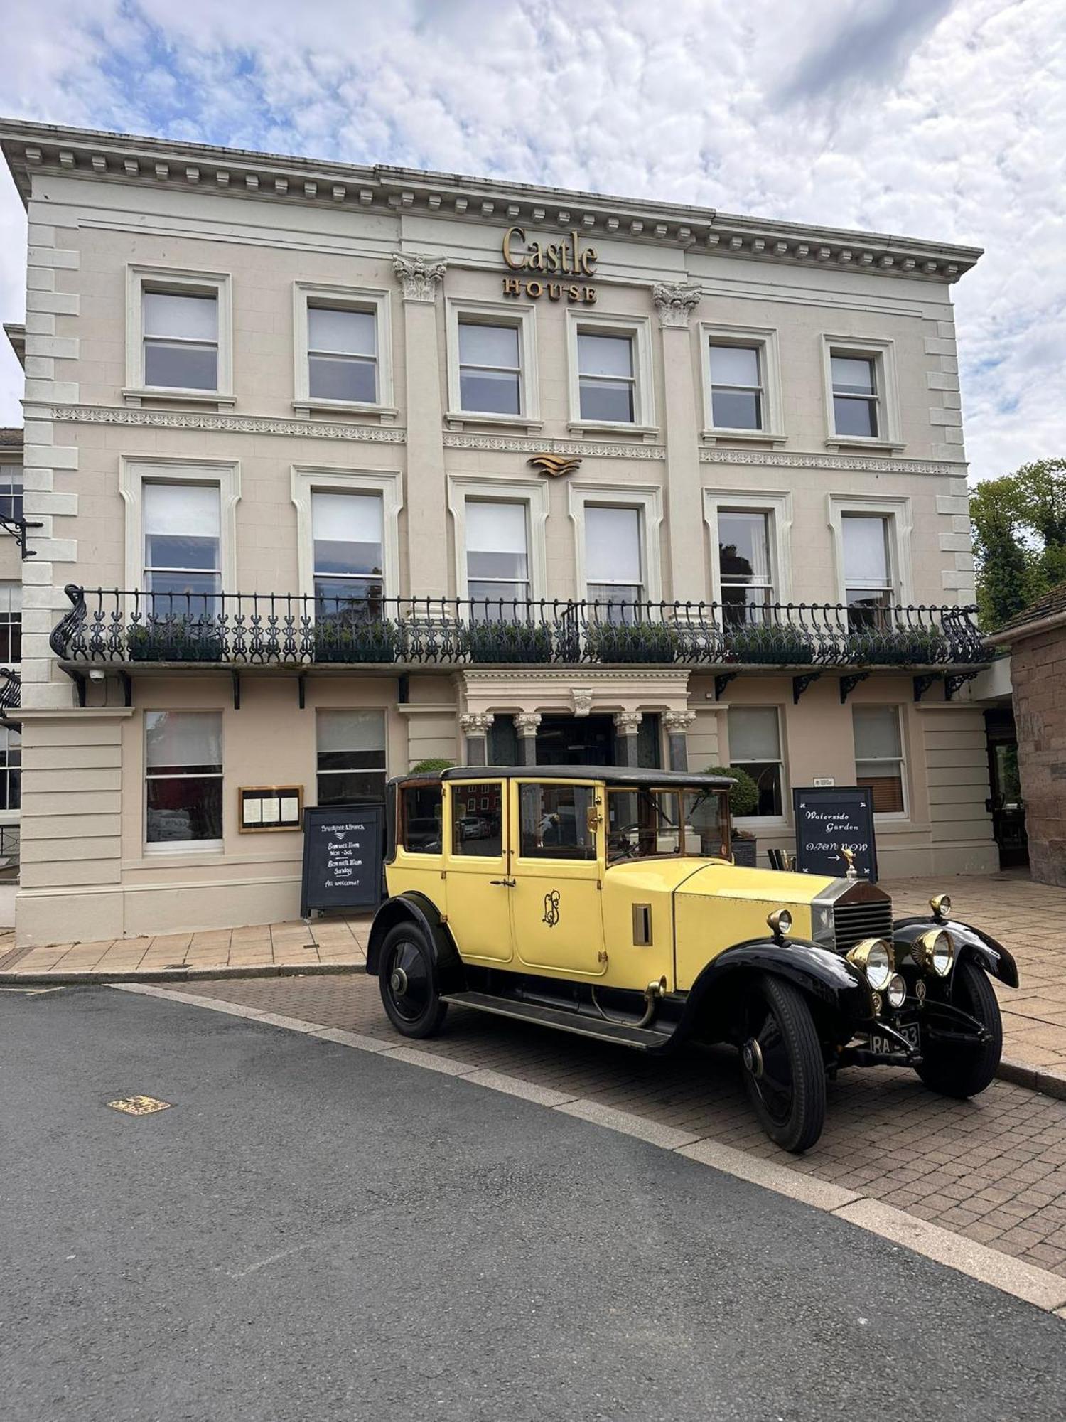
<path id="1" fill-rule="evenodd" d="M 1066 455 L 1063 0 L 4 0 L 11 117 L 975 243 L 976 478 Z M 23 313 L 0 173 L 0 314 Z M 0 354 L 0 424 L 18 370 Z"/>

